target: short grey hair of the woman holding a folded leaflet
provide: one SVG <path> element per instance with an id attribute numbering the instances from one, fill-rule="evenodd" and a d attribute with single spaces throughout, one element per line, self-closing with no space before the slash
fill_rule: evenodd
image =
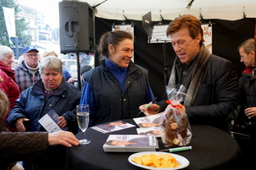
<path id="1" fill-rule="evenodd" d="M 56 58 L 55 56 L 48 56 L 41 60 L 40 66 L 39 66 L 39 72 L 42 74 L 42 72 L 45 69 L 51 69 L 57 72 L 61 72 L 62 74 L 62 61 L 61 59 Z"/>

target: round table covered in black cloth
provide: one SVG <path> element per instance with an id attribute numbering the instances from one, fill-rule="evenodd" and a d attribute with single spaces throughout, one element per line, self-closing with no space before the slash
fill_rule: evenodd
<path id="1" fill-rule="evenodd" d="M 123 121 L 136 124 L 132 119 Z M 131 127 L 111 134 L 136 134 L 136 128 Z M 230 134 L 208 125 L 191 125 L 191 129 L 193 136 L 189 145 L 192 146 L 192 150 L 175 152 L 189 160 L 189 166 L 184 169 L 243 169 L 241 150 Z M 88 128 L 85 136 L 86 139 L 90 139 L 90 144 L 68 149 L 66 169 L 142 170 L 143 168 L 136 167 L 128 161 L 132 152 L 104 152 L 102 145 L 109 134 Z M 82 133 L 76 136 L 81 139 Z M 159 142 L 160 149 L 163 149 L 161 139 Z"/>

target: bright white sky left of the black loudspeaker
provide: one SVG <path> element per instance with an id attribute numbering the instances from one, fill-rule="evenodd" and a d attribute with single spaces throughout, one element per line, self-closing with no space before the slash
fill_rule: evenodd
<path id="1" fill-rule="evenodd" d="M 59 27 L 59 2 L 61 0 L 17 0 L 18 3 L 27 7 L 35 8 L 44 14 L 49 26 Z"/>

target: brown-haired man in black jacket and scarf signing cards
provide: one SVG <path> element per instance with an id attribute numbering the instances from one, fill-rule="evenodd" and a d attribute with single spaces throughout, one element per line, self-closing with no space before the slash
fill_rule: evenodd
<path id="1" fill-rule="evenodd" d="M 188 91 L 182 105 L 191 124 L 208 124 L 230 132 L 230 121 L 240 106 L 238 75 L 232 63 L 210 54 L 205 46 L 201 21 L 183 14 L 169 24 L 166 36 L 171 37 L 177 54 L 168 87 L 183 85 Z M 140 106 L 146 116 L 166 109 L 166 99 Z"/>

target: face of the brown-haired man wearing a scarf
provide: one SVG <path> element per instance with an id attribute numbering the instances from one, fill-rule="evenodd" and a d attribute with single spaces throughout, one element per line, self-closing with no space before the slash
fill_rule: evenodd
<path id="1" fill-rule="evenodd" d="M 182 28 L 171 34 L 171 42 L 177 57 L 181 62 L 189 65 L 191 59 L 200 51 L 201 35 L 199 34 L 195 39 L 192 39 L 189 36 L 188 28 Z"/>

